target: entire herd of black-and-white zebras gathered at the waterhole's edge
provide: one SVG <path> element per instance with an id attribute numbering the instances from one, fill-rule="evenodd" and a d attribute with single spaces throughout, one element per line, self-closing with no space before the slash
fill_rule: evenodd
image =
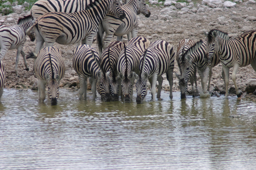
<path id="1" fill-rule="evenodd" d="M 172 99 L 173 69 L 175 52 L 164 40 L 150 42 L 137 36 L 138 18 L 142 13 L 150 17 L 145 0 L 129 0 L 120 5 L 118 0 L 39 0 L 31 8 L 31 15 L 18 20 L 15 26 L 0 26 L 0 97 L 3 93 L 5 67 L 2 59 L 8 50 L 17 49 L 16 66 L 21 53 L 28 70 L 22 48 L 27 34 L 31 41 L 36 39 L 36 49 L 27 55 L 34 58 L 34 73 L 38 79 L 39 102 L 45 100 L 45 87 L 52 105 L 57 104 L 59 82 L 64 75 L 65 65 L 60 49 L 53 47 L 77 44 L 73 51 L 72 65 L 80 79 L 79 99 L 87 98 L 87 78 L 91 83 L 92 98 L 96 90 L 104 101 L 117 101 L 121 96 L 125 102 L 132 101 L 135 83 L 136 102 L 142 103 L 147 95 L 147 80 L 151 85 L 152 100 L 160 98 L 166 73 Z M 105 32 L 105 36 L 103 34 Z M 98 50 L 93 48 L 93 37 L 97 33 Z M 122 42 L 127 34 L 128 42 Z M 116 35 L 118 40 L 110 43 Z M 181 98 L 186 98 L 190 81 L 195 93 L 196 72 L 201 78 L 203 93 L 209 91 L 212 68 L 222 63 L 225 82 L 225 97 L 228 97 L 229 69 L 233 67 L 232 80 L 236 94 L 239 67 L 251 64 L 256 71 L 256 31 L 247 31 L 235 39 L 218 29 L 205 33 L 206 39 L 194 42 L 183 39 L 179 42 L 176 60 L 179 66 Z M 82 42 L 82 45 L 79 45 Z M 43 45 L 45 43 L 45 48 Z M 103 48 L 103 51 L 102 51 Z M 156 93 L 156 81 L 158 92 Z M 208 81 L 208 86 L 207 86 Z M 256 95 L 256 91 L 253 93 Z"/>

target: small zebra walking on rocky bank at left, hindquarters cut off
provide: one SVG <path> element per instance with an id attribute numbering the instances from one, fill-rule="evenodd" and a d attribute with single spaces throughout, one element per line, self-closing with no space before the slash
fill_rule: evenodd
<path id="1" fill-rule="evenodd" d="M 31 15 L 25 16 L 18 19 L 18 24 L 13 26 L 0 25 L 0 59 L 3 59 L 8 50 L 17 49 L 16 63 L 15 63 L 15 74 L 18 75 L 18 61 L 21 53 L 25 70 L 28 71 L 27 62 L 25 59 L 25 53 L 23 46 L 26 41 L 26 30 L 32 25 L 33 18 Z M 31 41 L 34 41 L 35 37 L 29 37 Z"/>

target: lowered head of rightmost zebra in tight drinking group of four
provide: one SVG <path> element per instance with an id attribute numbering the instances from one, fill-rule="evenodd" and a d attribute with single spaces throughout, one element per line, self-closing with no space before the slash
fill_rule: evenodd
<path id="1" fill-rule="evenodd" d="M 135 78 L 138 79 L 135 86 L 136 86 L 136 92 L 137 92 L 136 102 L 139 104 L 139 103 L 142 103 L 142 101 L 147 95 L 148 73 L 145 72 L 143 78 L 139 77 L 138 75 L 136 75 Z"/>

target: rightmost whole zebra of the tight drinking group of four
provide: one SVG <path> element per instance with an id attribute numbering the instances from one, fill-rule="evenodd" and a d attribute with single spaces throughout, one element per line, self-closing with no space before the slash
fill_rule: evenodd
<path id="1" fill-rule="evenodd" d="M 151 85 L 151 96 L 153 101 L 156 100 L 156 81 L 158 81 L 157 98 L 161 96 L 161 89 L 163 84 L 162 75 L 166 73 L 170 85 L 170 95 L 172 99 L 172 73 L 174 69 L 174 49 L 164 40 L 153 42 L 148 49 L 142 54 L 139 60 L 139 76 L 136 75 L 136 102 L 142 103 L 147 95 L 147 79 Z M 135 74 L 135 73 L 134 73 Z"/>

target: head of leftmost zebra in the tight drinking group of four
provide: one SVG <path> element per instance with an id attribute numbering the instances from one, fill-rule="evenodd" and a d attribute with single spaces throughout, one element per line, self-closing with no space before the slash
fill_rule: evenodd
<path id="1" fill-rule="evenodd" d="M 109 102 L 111 100 L 111 97 L 109 92 L 109 79 L 107 74 L 101 73 L 101 71 L 97 71 L 96 88 L 98 93 L 101 95 L 101 99 L 106 102 Z"/>

